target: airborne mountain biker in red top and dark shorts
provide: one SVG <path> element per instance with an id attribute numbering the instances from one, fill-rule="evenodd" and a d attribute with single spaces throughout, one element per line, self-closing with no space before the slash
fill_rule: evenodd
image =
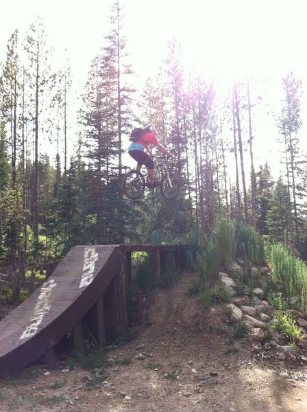
<path id="1" fill-rule="evenodd" d="M 148 187 L 149 189 L 153 189 L 153 187 L 157 187 L 160 183 L 154 181 L 153 177 L 153 155 L 151 153 L 151 150 L 149 148 L 149 144 L 152 144 L 153 146 L 156 146 L 160 152 L 164 153 L 164 155 L 167 155 L 168 157 L 173 157 L 171 153 L 162 146 L 162 144 L 159 143 L 158 141 L 158 133 L 156 132 L 156 128 L 153 126 L 149 125 L 146 126 L 143 129 L 139 129 L 140 133 L 138 133 L 138 137 L 136 140 L 132 141 L 132 144 L 130 144 L 128 148 L 128 153 L 132 157 L 132 159 L 136 160 L 138 162 L 136 166 L 136 170 L 140 172 L 140 168 L 142 168 L 142 165 L 145 165 L 147 168 L 148 176 L 149 176 L 149 183 Z M 145 153 L 145 151 L 147 153 Z"/>

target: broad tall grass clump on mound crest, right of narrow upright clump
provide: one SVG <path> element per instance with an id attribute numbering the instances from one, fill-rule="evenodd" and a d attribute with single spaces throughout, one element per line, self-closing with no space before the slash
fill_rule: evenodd
<path id="1" fill-rule="evenodd" d="M 234 225 L 236 255 L 244 262 L 265 264 L 265 240 L 251 226 L 241 222 Z"/>

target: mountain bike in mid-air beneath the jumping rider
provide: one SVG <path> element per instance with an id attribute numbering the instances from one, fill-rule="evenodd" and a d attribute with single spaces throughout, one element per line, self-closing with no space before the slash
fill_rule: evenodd
<path id="1" fill-rule="evenodd" d="M 178 196 L 180 190 L 180 181 L 178 176 L 169 170 L 167 156 L 156 156 L 158 163 L 154 165 L 153 174 L 155 182 L 160 182 L 160 192 L 167 200 L 174 199 Z M 149 183 L 148 176 L 145 176 L 137 170 L 130 170 L 123 177 L 123 192 L 132 201 L 140 199 Z"/>

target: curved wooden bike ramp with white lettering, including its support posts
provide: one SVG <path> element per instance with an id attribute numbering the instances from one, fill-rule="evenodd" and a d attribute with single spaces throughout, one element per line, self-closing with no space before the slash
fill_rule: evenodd
<path id="1" fill-rule="evenodd" d="M 0 321 L 0 373 L 52 356 L 68 333 L 82 351 L 84 334 L 100 347 L 125 333 L 127 312 L 119 245 L 77 246 L 32 296 Z"/>

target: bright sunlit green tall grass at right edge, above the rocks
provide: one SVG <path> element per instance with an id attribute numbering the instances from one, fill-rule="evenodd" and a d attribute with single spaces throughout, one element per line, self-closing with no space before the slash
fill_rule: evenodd
<path id="1" fill-rule="evenodd" d="M 282 286 L 282 293 L 288 303 L 291 297 L 299 300 L 299 307 L 307 311 L 307 265 L 295 258 L 282 244 L 268 247 L 267 259 L 273 267 L 273 281 Z"/>

